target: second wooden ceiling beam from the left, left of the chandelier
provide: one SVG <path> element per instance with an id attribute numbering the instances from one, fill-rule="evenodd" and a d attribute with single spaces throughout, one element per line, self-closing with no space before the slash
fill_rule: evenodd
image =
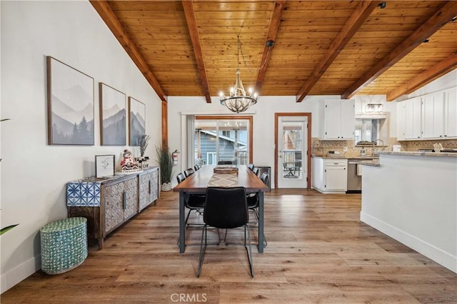
<path id="1" fill-rule="evenodd" d="M 189 29 L 189 35 L 191 36 L 192 46 L 194 46 L 194 56 L 199 69 L 199 76 L 201 80 L 201 86 L 206 98 L 206 103 L 211 103 L 211 94 L 209 93 L 208 77 L 206 77 L 205 63 L 203 60 L 203 52 L 201 51 L 199 27 L 195 17 L 194 4 L 192 1 L 183 0 L 184 15 L 186 16 L 187 27 Z"/>

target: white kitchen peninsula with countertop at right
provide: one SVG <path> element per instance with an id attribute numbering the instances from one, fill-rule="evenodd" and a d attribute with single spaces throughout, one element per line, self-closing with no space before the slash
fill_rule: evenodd
<path id="1" fill-rule="evenodd" d="M 379 152 L 360 219 L 457 273 L 457 153 Z"/>

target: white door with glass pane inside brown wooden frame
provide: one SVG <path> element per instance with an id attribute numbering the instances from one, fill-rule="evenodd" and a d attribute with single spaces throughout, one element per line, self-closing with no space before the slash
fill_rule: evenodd
<path id="1" fill-rule="evenodd" d="M 277 188 L 307 188 L 307 116 L 278 116 Z"/>

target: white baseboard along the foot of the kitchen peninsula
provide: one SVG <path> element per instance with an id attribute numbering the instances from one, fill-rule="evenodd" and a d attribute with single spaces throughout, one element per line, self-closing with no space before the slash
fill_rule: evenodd
<path id="1" fill-rule="evenodd" d="M 457 273 L 456 256 L 366 213 L 360 213 L 360 220 L 391 238 L 398 240 L 398 242 L 407 245 L 409 248 L 416 250 L 418 253 L 425 255 L 427 258 L 434 260 L 436 263 L 443 265 L 454 273 Z"/>

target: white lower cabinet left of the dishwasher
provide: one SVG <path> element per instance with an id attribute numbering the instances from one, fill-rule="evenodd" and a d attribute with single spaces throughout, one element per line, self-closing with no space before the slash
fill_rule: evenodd
<path id="1" fill-rule="evenodd" d="M 347 185 L 347 159 L 312 158 L 311 188 L 321 193 L 346 193 Z"/>

